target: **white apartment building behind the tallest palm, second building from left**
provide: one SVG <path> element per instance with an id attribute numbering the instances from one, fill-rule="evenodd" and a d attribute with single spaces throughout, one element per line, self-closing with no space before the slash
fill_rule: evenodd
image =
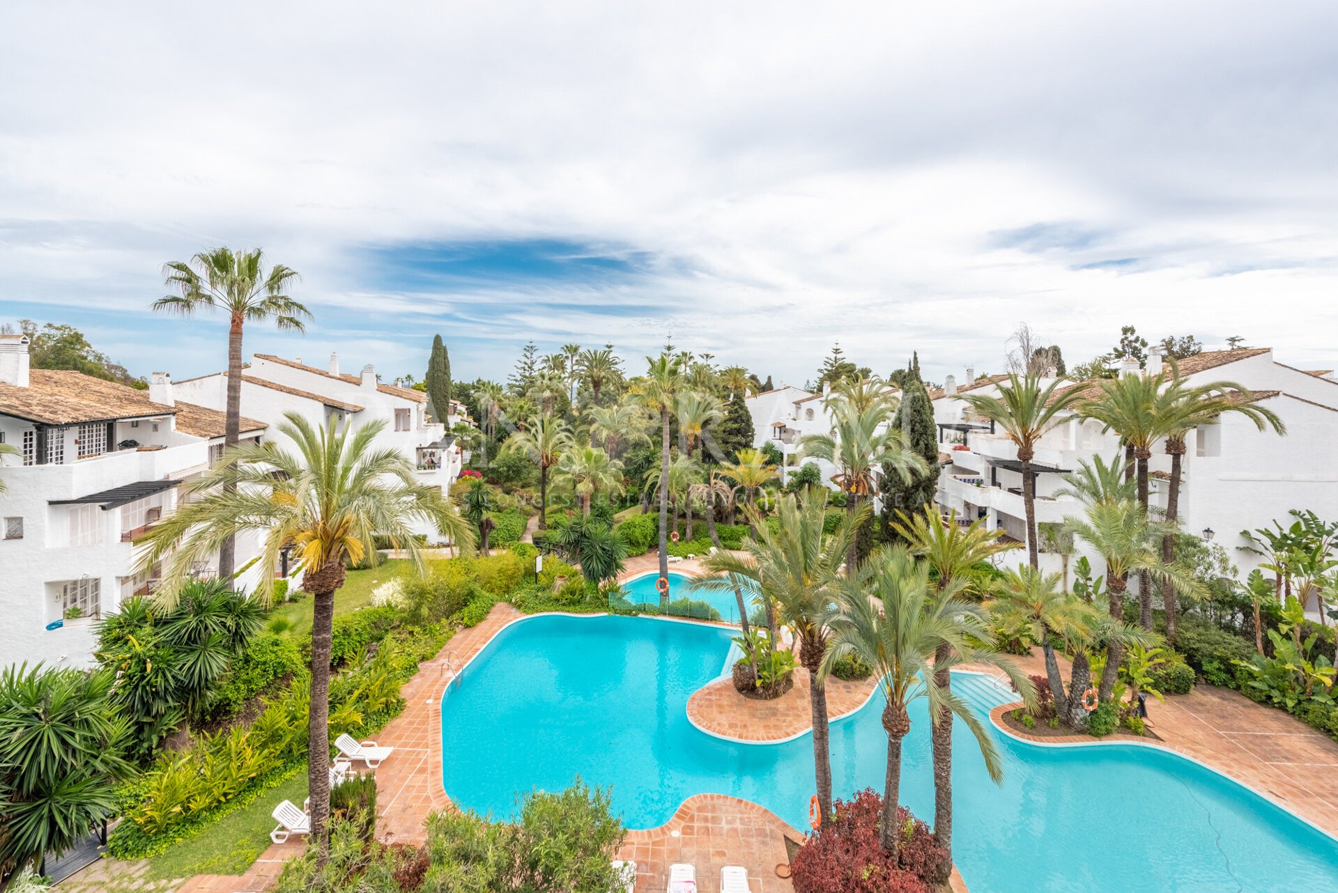
<path id="1" fill-rule="evenodd" d="M 178 381 L 173 388 L 178 396 L 202 406 L 223 409 L 227 405 L 226 372 Z M 450 433 L 456 422 L 471 422 L 462 404 L 452 401 L 447 424 L 429 421 L 427 394 L 379 382 L 371 365 L 363 366 L 357 376 L 343 374 L 337 354 L 330 354 L 326 369 L 305 365 L 301 360 L 254 354 L 242 372 L 241 408 L 244 416 L 268 425 L 264 440 L 277 441 L 284 449 L 294 448 L 278 430 L 289 412 L 298 413 L 313 426 L 333 422 L 340 430 L 384 421 L 376 446 L 405 455 L 417 469 L 419 481 L 440 487 L 443 495 L 450 492 L 470 459 Z M 439 537 L 431 525 L 420 525 L 415 532 L 431 540 Z"/>

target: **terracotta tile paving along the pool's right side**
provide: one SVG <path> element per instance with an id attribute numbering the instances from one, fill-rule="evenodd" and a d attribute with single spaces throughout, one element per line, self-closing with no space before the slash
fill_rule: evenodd
<path id="1" fill-rule="evenodd" d="M 1045 672 L 1040 651 L 1017 660 L 1030 674 Z M 1066 680 L 1069 664 L 1062 658 L 1060 663 Z M 995 725 L 998 714 L 1013 706 L 990 711 Z M 1149 699 L 1148 714 L 1161 738 L 1148 746 L 1198 759 L 1338 837 L 1338 742 L 1283 710 L 1218 686 L 1167 695 L 1164 705 Z M 1097 743 L 1090 735 L 1042 739 L 1012 729 L 1006 734 L 1040 743 Z"/>

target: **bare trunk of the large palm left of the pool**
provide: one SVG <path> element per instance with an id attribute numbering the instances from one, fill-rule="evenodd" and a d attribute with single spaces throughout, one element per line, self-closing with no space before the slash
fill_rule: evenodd
<path id="1" fill-rule="evenodd" d="M 312 594 L 312 703 L 306 727 L 306 783 L 310 794 L 312 834 L 317 860 L 329 857 L 326 819 L 330 811 L 330 640 L 334 624 L 334 592 L 344 586 L 344 561 L 328 559 L 302 580 Z"/>

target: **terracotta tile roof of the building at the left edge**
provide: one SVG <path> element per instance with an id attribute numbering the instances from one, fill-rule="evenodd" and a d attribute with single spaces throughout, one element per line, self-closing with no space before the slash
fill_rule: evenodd
<path id="1" fill-rule="evenodd" d="M 70 369 L 32 369 L 28 386 L 0 382 L 0 413 L 43 425 L 175 414 L 155 404 L 147 390 L 94 378 Z"/>

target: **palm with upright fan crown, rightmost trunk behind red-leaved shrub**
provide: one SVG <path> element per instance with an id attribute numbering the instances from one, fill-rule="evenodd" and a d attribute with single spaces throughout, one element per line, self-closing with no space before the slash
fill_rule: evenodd
<path id="1" fill-rule="evenodd" d="M 994 555 L 1017 548 L 1016 543 L 1001 539 L 1002 531 L 985 529 L 983 520 L 977 520 L 970 527 L 961 527 L 957 523 L 957 512 L 951 513 L 946 524 L 933 505 L 926 505 L 919 515 L 899 515 L 902 520 L 894 521 L 892 528 L 906 540 L 911 555 L 929 563 L 938 576 L 939 592 L 954 586 L 955 580 L 963 579 L 978 561 L 986 561 Z M 979 599 L 985 594 L 966 590 L 963 595 Z M 941 642 L 934 652 L 934 682 L 943 691 L 953 687 L 950 670 L 953 656 L 951 644 L 946 640 Z M 934 837 L 951 857 L 953 714 L 950 711 L 941 711 L 938 719 L 931 723 L 930 743 L 934 749 Z"/>

